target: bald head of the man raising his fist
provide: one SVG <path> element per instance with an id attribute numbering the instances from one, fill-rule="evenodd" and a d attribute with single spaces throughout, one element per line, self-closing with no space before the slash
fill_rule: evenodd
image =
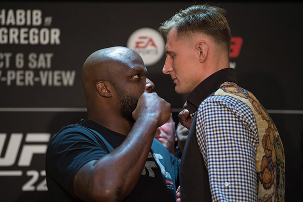
<path id="1" fill-rule="evenodd" d="M 118 46 L 92 53 L 82 68 L 88 116 L 109 113 L 109 109 L 119 114 L 127 106 L 133 111 L 141 94 L 154 88 L 146 72 L 142 58 L 132 49 Z M 125 97 L 132 98 L 132 102 L 122 106 Z"/>

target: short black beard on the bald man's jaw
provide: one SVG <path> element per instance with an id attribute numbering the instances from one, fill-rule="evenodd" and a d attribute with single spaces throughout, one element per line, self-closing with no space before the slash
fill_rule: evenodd
<path id="1" fill-rule="evenodd" d="M 132 118 L 132 112 L 136 109 L 138 99 L 134 95 L 126 94 L 124 91 L 116 87 L 118 98 L 120 102 L 120 115 L 122 118 L 126 119 L 130 123 L 135 123 Z"/>

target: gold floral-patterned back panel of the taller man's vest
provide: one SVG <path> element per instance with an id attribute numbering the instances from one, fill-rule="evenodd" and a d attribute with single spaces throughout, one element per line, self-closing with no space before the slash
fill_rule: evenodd
<path id="1" fill-rule="evenodd" d="M 221 84 L 215 95 L 239 99 L 254 113 L 259 132 L 256 156 L 258 201 L 284 201 L 284 148 L 274 122 L 255 95 L 232 82 Z"/>

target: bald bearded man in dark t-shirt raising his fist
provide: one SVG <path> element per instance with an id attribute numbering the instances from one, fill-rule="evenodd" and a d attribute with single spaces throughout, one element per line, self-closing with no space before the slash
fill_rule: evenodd
<path id="1" fill-rule="evenodd" d="M 154 138 L 171 106 L 126 47 L 91 54 L 82 69 L 86 120 L 61 129 L 46 152 L 53 201 L 175 201 L 178 160 Z"/>

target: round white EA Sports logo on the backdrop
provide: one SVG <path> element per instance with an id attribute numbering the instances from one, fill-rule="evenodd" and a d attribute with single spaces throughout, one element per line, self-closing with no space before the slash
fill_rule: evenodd
<path id="1" fill-rule="evenodd" d="M 143 59 L 145 66 L 154 65 L 164 54 L 165 42 L 158 31 L 141 28 L 128 38 L 127 47 L 136 51 Z"/>

